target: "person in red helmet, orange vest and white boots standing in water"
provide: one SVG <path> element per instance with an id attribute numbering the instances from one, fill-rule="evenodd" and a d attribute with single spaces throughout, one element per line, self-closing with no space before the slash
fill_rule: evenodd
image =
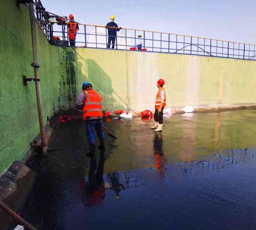
<path id="1" fill-rule="evenodd" d="M 166 92 L 163 85 L 165 85 L 165 80 L 159 79 L 157 81 L 158 92 L 156 94 L 154 113 L 155 124 L 151 127 L 155 129 L 155 131 L 162 131 L 163 127 L 163 108 L 166 106 Z"/>

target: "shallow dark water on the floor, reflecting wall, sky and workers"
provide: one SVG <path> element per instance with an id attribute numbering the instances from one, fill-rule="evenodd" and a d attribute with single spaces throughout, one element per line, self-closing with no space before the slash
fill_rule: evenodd
<path id="1" fill-rule="evenodd" d="M 74 138 L 85 140 L 82 121 L 64 124 L 65 151 L 40 164 L 49 172 L 36 187 L 49 196 L 35 192 L 26 218 L 45 229 L 255 229 L 255 110 L 173 114 L 160 133 L 151 124 L 105 123 L 117 140 L 92 159 Z"/>

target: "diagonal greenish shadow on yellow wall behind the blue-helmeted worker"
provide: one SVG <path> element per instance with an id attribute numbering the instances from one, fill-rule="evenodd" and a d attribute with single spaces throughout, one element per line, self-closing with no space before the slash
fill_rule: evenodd
<path id="1" fill-rule="evenodd" d="M 97 62 L 93 59 L 84 59 L 78 53 L 76 53 L 76 55 L 77 59 L 80 60 L 80 62 L 78 62 L 79 68 L 77 69 L 77 71 L 79 71 L 77 72 L 78 77 L 81 79 L 80 85 L 84 81 L 91 82 L 95 91 L 102 95 L 103 110 L 127 109 L 133 111 L 129 106 L 130 99 L 127 94 L 127 87 L 123 90 L 123 97 L 120 96 L 112 86 L 112 78 L 105 73 Z M 120 81 L 122 81 L 122 79 Z M 81 88 L 80 85 L 78 86 L 79 88 Z"/>

